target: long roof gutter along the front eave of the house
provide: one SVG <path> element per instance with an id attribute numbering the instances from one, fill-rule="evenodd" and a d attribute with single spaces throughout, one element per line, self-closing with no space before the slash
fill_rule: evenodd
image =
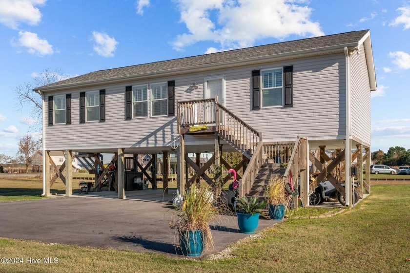
<path id="1" fill-rule="evenodd" d="M 41 92 L 59 91 L 59 90 L 64 90 L 68 88 L 78 88 L 78 87 L 85 87 L 85 86 L 91 86 L 91 85 L 97 85 L 97 84 L 115 84 L 115 83 L 120 83 L 120 82 L 141 80 L 141 79 L 146 79 L 146 78 L 155 78 L 159 76 L 166 77 L 166 76 L 181 74 L 181 73 L 202 72 L 202 71 L 211 70 L 214 68 L 221 69 L 221 68 L 229 68 L 229 67 L 234 67 L 234 66 L 237 67 L 238 65 L 267 63 L 267 62 L 273 62 L 273 61 L 280 61 L 284 59 L 295 59 L 295 58 L 317 56 L 317 55 L 323 55 L 323 54 L 342 53 L 344 47 L 356 47 L 357 45 L 358 45 L 358 42 L 352 42 L 348 44 L 340 44 L 340 45 L 325 46 L 325 47 L 306 49 L 306 50 L 298 50 L 298 51 L 293 51 L 293 52 L 286 52 L 286 53 L 266 55 L 266 56 L 258 56 L 258 57 L 253 57 L 253 58 L 232 60 L 232 61 L 226 61 L 226 62 L 221 62 L 221 63 L 206 63 L 206 64 L 201 64 L 201 65 L 173 68 L 173 69 L 153 71 L 153 72 L 134 74 L 134 75 L 127 75 L 123 77 L 115 77 L 115 78 L 108 78 L 108 79 L 101 79 L 101 80 L 73 83 L 73 84 L 53 85 L 53 86 L 41 88 Z M 40 91 L 40 88 L 34 88 L 33 91 L 35 92 Z"/>

